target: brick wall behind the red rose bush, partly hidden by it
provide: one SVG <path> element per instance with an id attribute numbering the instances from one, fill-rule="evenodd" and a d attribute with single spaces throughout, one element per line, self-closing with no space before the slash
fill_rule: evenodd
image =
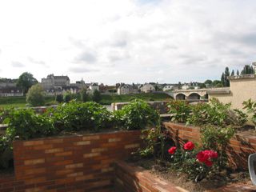
<path id="1" fill-rule="evenodd" d="M 200 130 L 195 126 L 185 126 L 173 122 L 164 122 L 166 129 L 170 130 L 171 137 L 176 145 L 182 145 L 184 142 L 193 141 L 200 143 Z M 247 170 L 249 154 L 256 153 L 256 136 L 250 133 L 238 133 L 230 139 L 227 147 L 227 154 L 232 166 Z"/>

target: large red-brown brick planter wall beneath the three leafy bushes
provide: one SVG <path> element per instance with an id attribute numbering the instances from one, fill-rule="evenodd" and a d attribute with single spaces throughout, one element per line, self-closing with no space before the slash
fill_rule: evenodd
<path id="1" fill-rule="evenodd" d="M 14 142 L 14 175 L 0 191 L 111 191 L 112 162 L 141 145 L 140 131 Z"/>

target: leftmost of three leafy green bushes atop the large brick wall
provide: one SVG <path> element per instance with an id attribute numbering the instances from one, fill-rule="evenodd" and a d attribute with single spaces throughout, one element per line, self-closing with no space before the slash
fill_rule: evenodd
<path id="1" fill-rule="evenodd" d="M 10 138 L 40 138 L 56 133 L 51 118 L 35 114 L 30 109 L 12 110 L 4 122 L 8 124 L 6 134 Z"/>

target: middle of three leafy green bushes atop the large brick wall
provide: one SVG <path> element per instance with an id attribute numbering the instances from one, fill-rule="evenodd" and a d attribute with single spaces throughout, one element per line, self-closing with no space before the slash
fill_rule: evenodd
<path id="1" fill-rule="evenodd" d="M 110 127 L 112 115 L 95 102 L 64 103 L 53 111 L 54 126 L 59 130 L 78 131 Z"/>

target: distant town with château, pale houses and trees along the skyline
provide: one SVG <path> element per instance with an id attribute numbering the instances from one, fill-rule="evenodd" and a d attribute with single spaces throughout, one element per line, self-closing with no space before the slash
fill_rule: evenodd
<path id="1" fill-rule="evenodd" d="M 177 83 L 158 83 L 158 82 L 145 82 L 126 84 L 118 82 L 115 85 L 104 85 L 98 82 L 86 82 L 83 79 L 76 82 L 70 82 L 68 75 L 54 75 L 49 74 L 46 78 L 42 78 L 41 82 L 33 78 L 33 74 L 23 73 L 17 79 L 0 78 L 0 96 L 1 97 L 14 97 L 24 96 L 27 92 L 26 87 L 21 85 L 22 79 L 31 78 L 31 82 L 38 82 L 46 95 L 54 96 L 58 94 L 77 94 L 80 90 L 85 89 L 87 94 L 93 94 L 98 90 L 101 94 L 139 94 L 139 93 L 154 93 L 154 92 L 175 92 L 178 90 L 200 90 L 207 88 L 219 88 L 230 86 L 230 76 L 238 76 L 240 74 L 254 74 L 254 67 L 246 65 L 243 67 L 241 73 L 237 70 L 231 71 L 226 67 L 221 75 L 220 80 L 207 79 L 205 82 L 177 82 Z M 33 83 L 32 83 L 33 84 Z M 174 96 L 174 95 L 172 95 Z M 182 99 L 182 95 L 180 95 Z M 185 96 L 184 96 L 185 97 Z"/>

